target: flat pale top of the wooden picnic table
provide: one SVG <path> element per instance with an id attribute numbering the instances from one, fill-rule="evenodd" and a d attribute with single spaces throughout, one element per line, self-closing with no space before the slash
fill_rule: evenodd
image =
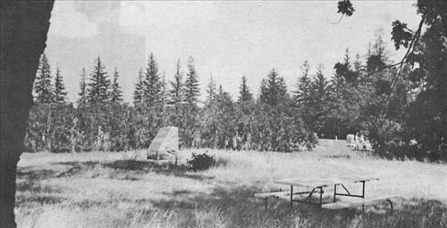
<path id="1" fill-rule="evenodd" d="M 274 183 L 302 186 L 302 187 L 327 187 L 334 184 L 342 183 L 358 183 L 369 182 L 378 180 L 374 176 L 361 176 L 361 175 L 344 175 L 344 176 L 328 176 L 328 177 L 312 177 L 312 178 L 289 178 L 274 181 Z"/>

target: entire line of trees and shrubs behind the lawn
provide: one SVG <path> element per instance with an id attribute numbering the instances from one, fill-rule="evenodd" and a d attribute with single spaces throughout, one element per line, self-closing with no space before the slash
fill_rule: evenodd
<path id="1" fill-rule="evenodd" d="M 441 54 L 426 51 L 430 38 L 424 36 L 426 43 L 417 47 L 417 61 Z M 210 76 L 202 105 L 198 105 L 200 90 L 192 57 L 184 70 L 177 61 L 173 80 L 166 82 L 151 53 L 147 67 L 139 69 L 133 105 L 122 102 L 117 69 L 111 81 L 98 57 L 89 78 L 85 69 L 81 71 L 75 108 L 65 102 L 60 69 L 53 88 L 44 54 L 26 142 L 33 151 L 135 150 L 148 148 L 160 127 L 178 126 L 182 147 L 299 151 L 311 150 L 317 137 L 344 138 L 362 132 L 375 152 L 384 156 L 445 159 L 445 133 L 436 126 L 446 126 L 445 119 L 424 116 L 439 108 L 430 106 L 430 99 L 438 101 L 439 94 L 427 94 L 434 82 L 426 74 L 436 76 L 436 72 L 424 67 L 433 63 L 400 66 L 389 55 L 378 34 L 364 58 L 352 57 L 346 49 L 344 58 L 334 64 L 332 77 L 324 75 L 323 65 L 311 74 L 310 63 L 302 62 L 291 92 L 276 69 L 262 79 L 257 97 L 243 76 L 236 101 Z M 424 110 L 417 105 L 430 107 Z M 426 130 L 427 124 L 439 131 Z"/>

